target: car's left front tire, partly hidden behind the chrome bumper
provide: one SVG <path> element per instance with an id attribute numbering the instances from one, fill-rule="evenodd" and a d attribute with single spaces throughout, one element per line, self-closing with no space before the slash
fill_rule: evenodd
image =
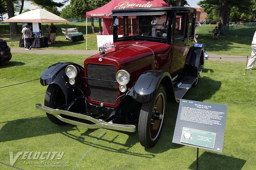
<path id="1" fill-rule="evenodd" d="M 61 88 L 56 84 L 48 85 L 48 88 L 44 97 L 44 105 L 53 109 L 66 109 L 65 96 Z M 60 119 L 56 118 L 52 114 L 46 113 L 48 119 L 57 125 L 66 125 L 66 122 L 62 122 Z"/>

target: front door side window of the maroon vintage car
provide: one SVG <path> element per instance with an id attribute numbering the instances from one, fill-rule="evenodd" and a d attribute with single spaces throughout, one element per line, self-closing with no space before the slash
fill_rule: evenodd
<path id="1" fill-rule="evenodd" d="M 175 18 L 175 40 L 187 37 L 188 12 L 178 12 Z"/>

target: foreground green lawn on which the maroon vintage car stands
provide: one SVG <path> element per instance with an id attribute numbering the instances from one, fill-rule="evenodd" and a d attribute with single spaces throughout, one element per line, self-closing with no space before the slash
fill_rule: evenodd
<path id="1" fill-rule="evenodd" d="M 151 149 L 140 145 L 138 133 L 96 129 L 73 125 L 58 126 L 35 108 L 44 103 L 46 86 L 39 80 L 49 65 L 59 61 L 83 64 L 84 55 L 44 55 L 13 53 L 11 61 L 0 63 L 0 162 L 10 164 L 10 152 L 64 152 L 66 167 L 35 167 L 33 161 L 17 159 L 14 166 L 24 170 L 195 170 L 196 148 L 172 143 L 178 104 L 168 103 L 163 133 Z M 245 63 L 211 61 L 197 87 L 184 99 L 228 105 L 223 153 L 199 150 L 201 170 L 255 170 L 256 96 L 255 69 L 245 73 Z M 29 163 L 29 161 L 31 161 Z M 47 162 L 47 160 L 40 160 Z M 52 164 L 53 163 L 53 164 Z M 1 170 L 13 168 L 0 164 Z"/>

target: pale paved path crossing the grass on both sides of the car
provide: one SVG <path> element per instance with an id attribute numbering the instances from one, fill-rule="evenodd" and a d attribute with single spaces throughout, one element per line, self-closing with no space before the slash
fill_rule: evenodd
<path id="1" fill-rule="evenodd" d="M 34 54 L 88 54 L 93 55 L 99 53 L 98 50 L 50 50 L 48 48 L 32 48 L 32 50 L 25 50 L 25 48 L 12 48 L 11 52 L 15 53 L 34 53 Z M 217 55 L 208 54 L 209 60 L 220 60 L 220 61 L 235 61 L 235 62 L 246 62 L 247 56 L 229 56 L 229 55 Z"/>

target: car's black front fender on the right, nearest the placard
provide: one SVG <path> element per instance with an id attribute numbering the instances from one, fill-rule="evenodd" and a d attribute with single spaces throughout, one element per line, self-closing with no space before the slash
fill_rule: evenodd
<path id="1" fill-rule="evenodd" d="M 134 98 L 137 102 L 148 102 L 157 92 L 157 88 L 162 82 L 162 79 L 168 77 L 170 82 L 172 82 L 172 78 L 169 73 L 164 71 L 146 71 L 142 75 L 140 75 L 139 79 L 135 83 L 134 87 L 132 87 L 127 95 Z M 170 84 L 170 87 L 172 83 Z"/>

